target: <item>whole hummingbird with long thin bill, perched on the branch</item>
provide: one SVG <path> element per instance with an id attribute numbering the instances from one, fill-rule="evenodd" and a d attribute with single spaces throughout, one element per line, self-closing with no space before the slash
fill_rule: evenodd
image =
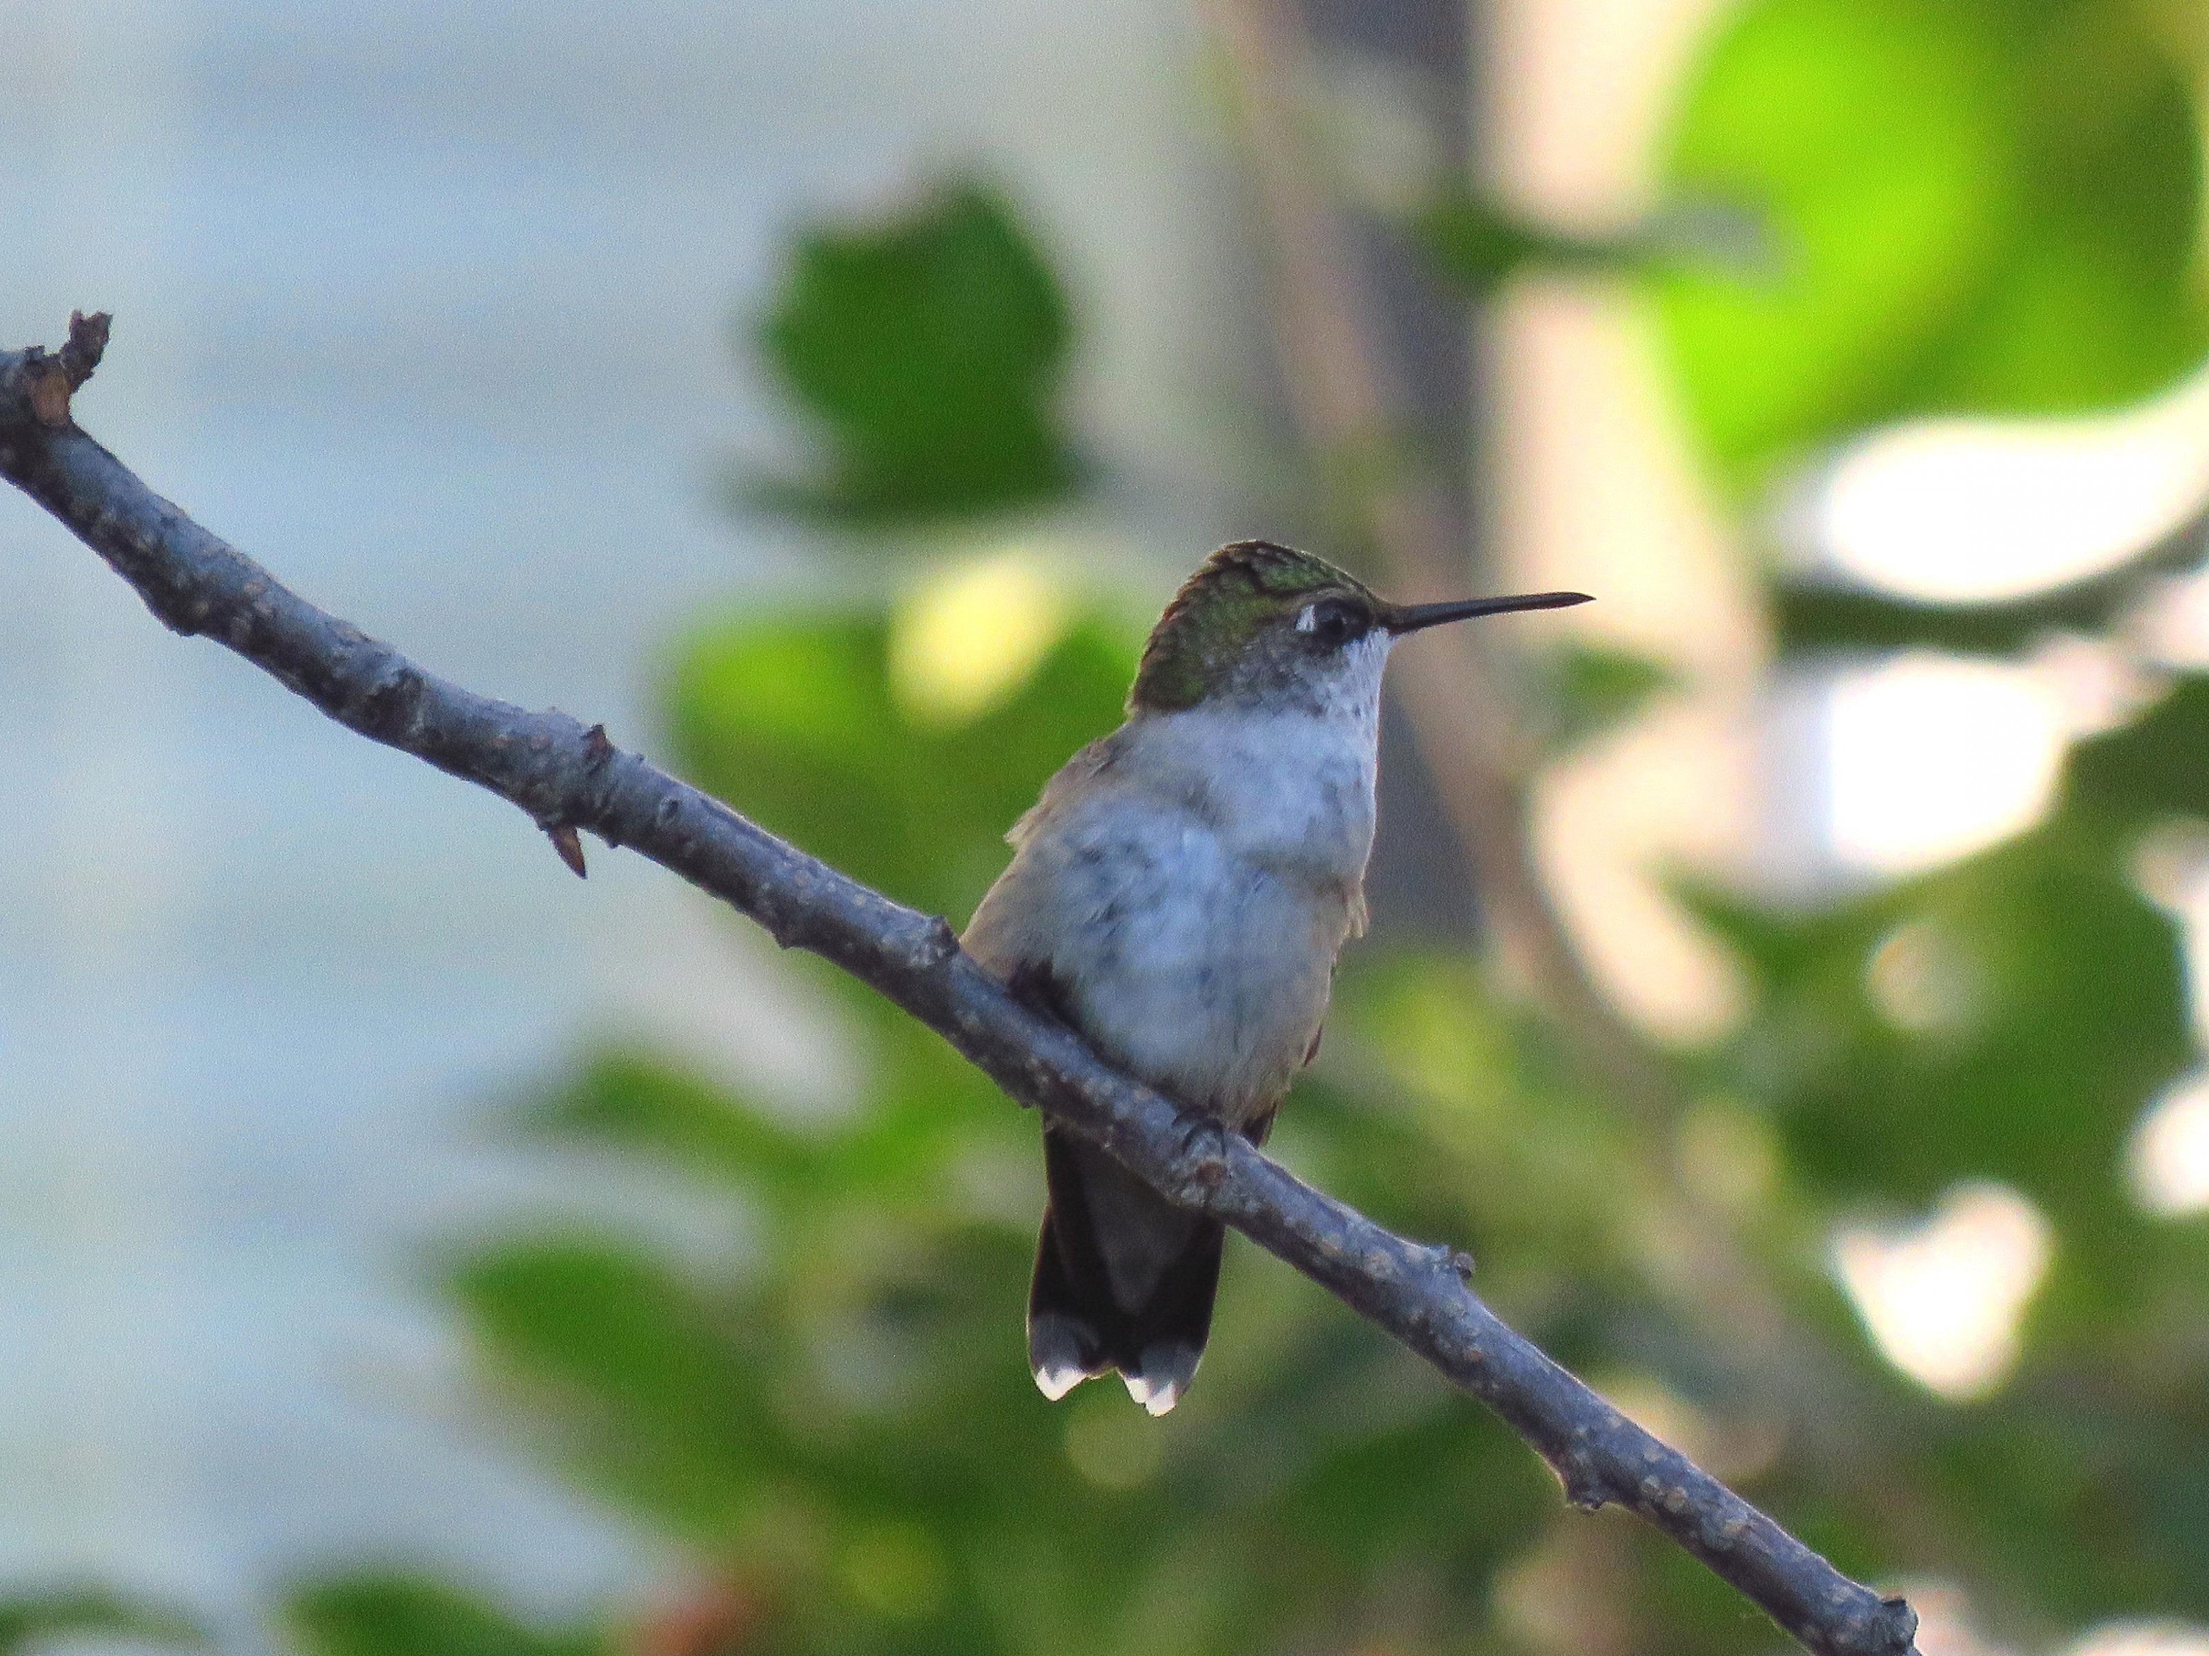
<path id="1" fill-rule="evenodd" d="M 1127 720 L 1054 775 L 961 938 L 1036 1011 L 1215 1130 L 1264 1144 L 1365 930 L 1381 669 L 1396 640 L 1582 592 L 1396 605 L 1321 556 L 1235 541 L 1151 629 Z M 1211 1336 L 1217 1219 L 1043 1126 L 1027 1360 L 1058 1400 L 1120 1371 L 1162 1415 Z"/>

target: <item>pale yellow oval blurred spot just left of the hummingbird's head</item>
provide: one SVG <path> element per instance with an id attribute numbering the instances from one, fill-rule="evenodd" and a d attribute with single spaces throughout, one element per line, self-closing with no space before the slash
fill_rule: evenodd
<path id="1" fill-rule="evenodd" d="M 965 724 L 1027 682 L 1067 627 L 1067 592 L 1032 548 L 926 576 L 890 623 L 890 689 L 923 724 Z"/>

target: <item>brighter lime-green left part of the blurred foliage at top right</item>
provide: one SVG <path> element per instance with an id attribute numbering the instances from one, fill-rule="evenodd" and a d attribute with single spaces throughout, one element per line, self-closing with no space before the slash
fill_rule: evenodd
<path id="1" fill-rule="evenodd" d="M 1946 4 L 1761 0 L 1690 75 L 1670 177 L 1774 219 L 1767 289 L 1663 285 L 1681 391 L 1727 468 L 1902 406 L 1995 261 L 1999 49 Z"/>

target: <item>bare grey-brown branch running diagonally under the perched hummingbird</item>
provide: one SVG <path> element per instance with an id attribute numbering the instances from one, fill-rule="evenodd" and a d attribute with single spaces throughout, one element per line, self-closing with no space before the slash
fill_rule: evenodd
<path id="1" fill-rule="evenodd" d="M 1575 1506 L 1615 1501 L 1639 1512 L 1807 1649 L 1911 1656 L 1917 1616 L 1902 1599 L 1842 1577 L 1504 1327 L 1465 1285 L 1465 1254 L 1405 1241 L 1268 1161 L 1239 1133 L 1180 1115 L 1012 1000 L 941 916 L 806 857 L 623 753 L 601 726 L 530 713 L 422 671 L 192 523 L 71 420 L 68 393 L 104 342 L 106 316 L 80 316 L 57 355 L 0 353 L 0 475 L 99 552 L 163 625 L 214 638 L 347 729 L 521 806 L 557 843 L 588 828 L 630 846 L 742 910 L 775 943 L 833 960 L 950 1040 L 1014 1100 L 1049 1111 L 1173 1201 L 1235 1225 L 1434 1362 L 1555 1468 Z"/>

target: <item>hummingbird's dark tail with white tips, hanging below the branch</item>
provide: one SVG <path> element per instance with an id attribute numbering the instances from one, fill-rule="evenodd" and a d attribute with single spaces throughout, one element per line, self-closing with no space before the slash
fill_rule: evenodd
<path id="1" fill-rule="evenodd" d="M 1120 1371 L 1162 1415 L 1197 1373 L 1219 1287 L 1217 1219 L 1175 1208 L 1102 1150 L 1043 1130 L 1051 1201 L 1027 1289 L 1027 1360 L 1054 1402 Z"/>

